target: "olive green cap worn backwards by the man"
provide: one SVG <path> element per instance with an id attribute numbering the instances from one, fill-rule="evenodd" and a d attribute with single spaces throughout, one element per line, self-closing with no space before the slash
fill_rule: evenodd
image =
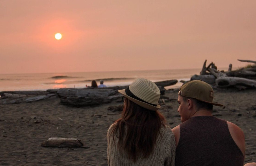
<path id="1" fill-rule="evenodd" d="M 216 106 L 223 106 L 222 104 L 213 102 L 213 89 L 209 84 L 202 80 L 192 80 L 186 82 L 180 87 L 179 95 L 191 97 Z"/>

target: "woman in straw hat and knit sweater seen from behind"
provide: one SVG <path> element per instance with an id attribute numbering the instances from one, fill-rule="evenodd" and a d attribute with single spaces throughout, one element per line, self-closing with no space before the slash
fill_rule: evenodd
<path id="1" fill-rule="evenodd" d="M 136 79 L 123 90 L 124 109 L 108 129 L 108 165 L 174 166 L 175 138 L 157 109 L 160 90 L 150 80 Z"/>

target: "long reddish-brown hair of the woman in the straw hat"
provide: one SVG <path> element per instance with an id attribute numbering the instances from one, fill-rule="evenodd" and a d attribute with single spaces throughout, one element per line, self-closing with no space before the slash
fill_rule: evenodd
<path id="1" fill-rule="evenodd" d="M 128 157 L 136 161 L 140 153 L 144 158 L 152 153 L 156 136 L 165 121 L 164 116 L 158 111 L 145 109 L 126 98 L 122 116 L 116 120 L 111 134 L 113 139 L 116 134 L 118 147 L 127 150 Z"/>

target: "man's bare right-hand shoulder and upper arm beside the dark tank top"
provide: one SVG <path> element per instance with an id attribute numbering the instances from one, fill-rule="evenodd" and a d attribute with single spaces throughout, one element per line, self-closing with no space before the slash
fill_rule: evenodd
<path id="1" fill-rule="evenodd" d="M 244 138 L 244 132 L 240 127 L 238 127 L 236 124 L 233 124 L 231 122 L 228 122 L 228 130 L 231 134 L 231 137 L 235 141 L 236 145 L 240 148 L 243 155 L 245 155 L 245 138 Z"/>

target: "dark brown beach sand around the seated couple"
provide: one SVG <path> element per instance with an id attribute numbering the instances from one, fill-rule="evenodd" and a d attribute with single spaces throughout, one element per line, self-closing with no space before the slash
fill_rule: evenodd
<path id="1" fill-rule="evenodd" d="M 177 91 L 166 91 L 159 110 L 172 128 L 180 124 Z M 0 105 L 0 165 L 99 165 L 107 164 L 107 130 L 120 117 L 108 104 L 68 107 L 58 97 L 37 102 Z M 238 125 L 245 134 L 245 162 L 256 162 L 256 91 L 215 90 L 213 115 Z M 163 103 L 162 103 L 163 104 Z M 41 147 L 50 137 L 78 138 L 89 148 Z"/>

